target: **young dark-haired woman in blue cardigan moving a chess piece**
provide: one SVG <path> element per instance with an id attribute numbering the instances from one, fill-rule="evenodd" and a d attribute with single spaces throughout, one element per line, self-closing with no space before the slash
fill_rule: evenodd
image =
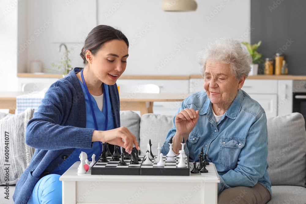
<path id="1" fill-rule="evenodd" d="M 120 127 L 116 80 L 125 71 L 128 48 L 121 31 L 99 25 L 80 53 L 84 69 L 74 68 L 50 86 L 27 125 L 26 143 L 36 150 L 16 184 L 15 203 L 62 203 L 60 175 L 79 161 L 81 151 L 98 160 L 101 142 L 139 150 L 135 136 Z"/>

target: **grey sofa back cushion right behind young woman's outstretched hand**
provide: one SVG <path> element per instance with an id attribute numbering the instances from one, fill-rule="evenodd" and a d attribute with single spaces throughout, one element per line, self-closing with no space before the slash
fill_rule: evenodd
<path id="1" fill-rule="evenodd" d="M 124 126 L 135 135 L 137 142 L 139 144 L 139 123 L 140 116 L 130 110 L 120 111 L 120 126 Z"/>

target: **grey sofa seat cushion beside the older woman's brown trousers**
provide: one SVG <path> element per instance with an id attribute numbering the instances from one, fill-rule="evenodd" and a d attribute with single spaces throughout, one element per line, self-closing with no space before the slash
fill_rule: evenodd
<path id="1" fill-rule="evenodd" d="M 272 186 L 272 197 L 267 204 L 305 204 L 306 188 L 301 186 Z"/>

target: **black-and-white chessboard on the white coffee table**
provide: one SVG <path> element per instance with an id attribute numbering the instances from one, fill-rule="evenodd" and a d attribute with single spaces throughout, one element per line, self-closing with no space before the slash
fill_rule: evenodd
<path id="1" fill-rule="evenodd" d="M 167 161 L 166 156 L 163 156 L 165 161 L 165 166 L 158 166 L 155 158 L 152 159 L 152 164 L 143 164 L 143 155 L 139 155 L 141 161 L 139 164 L 130 164 L 130 159 L 124 160 L 126 166 L 119 166 L 119 161 L 110 161 L 112 157 L 107 157 L 108 162 L 96 161 L 91 167 L 92 175 L 157 175 L 157 176 L 189 176 L 189 158 L 187 158 L 187 163 L 185 168 L 178 168 L 177 164 L 179 162 L 178 157 L 174 157 L 175 161 Z"/>

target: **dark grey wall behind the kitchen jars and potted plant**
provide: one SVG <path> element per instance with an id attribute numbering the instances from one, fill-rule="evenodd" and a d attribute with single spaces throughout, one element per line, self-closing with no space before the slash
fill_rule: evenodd
<path id="1" fill-rule="evenodd" d="M 306 75 L 306 1 L 251 0 L 251 43 L 262 40 L 258 52 L 266 57 L 282 53 L 288 74 Z M 263 73 L 259 65 L 259 74 Z"/>

